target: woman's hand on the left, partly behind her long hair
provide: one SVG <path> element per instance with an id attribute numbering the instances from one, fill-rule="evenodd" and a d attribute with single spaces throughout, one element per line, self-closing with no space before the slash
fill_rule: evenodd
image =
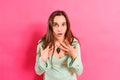
<path id="1" fill-rule="evenodd" d="M 42 46 L 40 46 L 40 50 L 41 50 L 41 58 L 43 60 L 43 62 L 46 62 L 48 57 L 51 55 L 52 53 L 52 48 L 49 48 L 49 46 L 47 46 L 44 50 L 42 48 Z"/>

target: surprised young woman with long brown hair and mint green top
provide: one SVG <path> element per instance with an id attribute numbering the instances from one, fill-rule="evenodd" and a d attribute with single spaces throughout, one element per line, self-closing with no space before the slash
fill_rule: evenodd
<path id="1" fill-rule="evenodd" d="M 44 80 L 77 80 L 83 71 L 80 44 L 73 36 L 64 11 L 54 11 L 45 36 L 37 45 L 35 72 Z"/>

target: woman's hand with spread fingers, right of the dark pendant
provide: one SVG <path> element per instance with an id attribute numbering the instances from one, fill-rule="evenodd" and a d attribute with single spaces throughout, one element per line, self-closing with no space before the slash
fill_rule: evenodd
<path id="1" fill-rule="evenodd" d="M 69 54 L 73 60 L 77 57 L 77 49 L 73 48 L 67 41 L 65 43 L 60 43 L 60 48 L 66 52 L 66 54 Z"/>

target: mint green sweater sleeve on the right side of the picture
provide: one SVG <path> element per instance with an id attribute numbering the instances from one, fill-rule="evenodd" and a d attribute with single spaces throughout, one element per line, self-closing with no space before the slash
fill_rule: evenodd
<path id="1" fill-rule="evenodd" d="M 68 60 L 67 60 L 67 66 L 73 73 L 80 75 L 83 72 L 83 64 L 82 64 L 82 60 L 81 60 L 80 45 L 78 42 L 77 42 L 77 44 L 75 44 L 75 48 L 77 48 L 78 55 L 74 61 L 69 56 Z"/>

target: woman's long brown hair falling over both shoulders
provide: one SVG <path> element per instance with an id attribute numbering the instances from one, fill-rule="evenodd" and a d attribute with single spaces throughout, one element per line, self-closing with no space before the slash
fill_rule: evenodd
<path id="1" fill-rule="evenodd" d="M 68 19 L 67 14 L 64 11 L 61 10 L 57 10 L 54 11 L 49 19 L 48 19 L 48 27 L 47 27 L 47 33 L 44 35 L 44 37 L 42 38 L 43 41 L 43 48 L 46 48 L 48 45 L 50 45 L 50 47 L 55 45 L 55 37 L 53 35 L 53 20 L 55 18 L 55 16 L 64 16 L 66 19 L 66 24 L 67 24 L 67 30 L 65 33 L 65 40 L 67 40 L 69 42 L 70 45 L 72 45 L 72 41 L 73 41 L 73 33 L 70 29 L 70 21 Z"/>

